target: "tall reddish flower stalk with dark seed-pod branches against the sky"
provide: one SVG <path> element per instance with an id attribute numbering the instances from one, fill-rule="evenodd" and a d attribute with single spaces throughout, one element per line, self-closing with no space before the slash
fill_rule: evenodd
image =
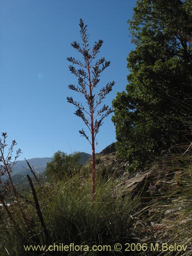
<path id="1" fill-rule="evenodd" d="M 80 117 L 84 124 L 87 126 L 91 137 L 81 129 L 79 133 L 81 136 L 85 137 L 92 146 L 92 201 L 95 197 L 95 138 L 99 131 L 99 127 L 102 125 L 102 121 L 106 116 L 109 116 L 113 109 L 109 108 L 108 105 L 103 104 L 103 106 L 98 110 L 98 106 L 101 104 L 105 96 L 112 91 L 112 87 L 115 82 L 112 81 L 106 84 L 105 87 L 101 88 L 100 91 L 95 93 L 95 88 L 100 81 L 100 74 L 110 66 L 110 61 L 106 61 L 105 58 L 101 57 L 95 60 L 97 53 L 99 52 L 103 41 L 98 40 L 91 49 L 89 46 L 89 36 L 87 34 L 87 25 L 84 25 L 83 20 L 80 19 L 80 37 L 82 40 L 82 45 L 79 42 L 74 41 L 71 46 L 75 48 L 81 55 L 83 61 L 77 60 L 73 57 L 67 58 L 72 65 L 69 66 L 71 73 L 73 73 L 78 78 L 78 85 L 74 86 L 69 84 L 69 89 L 78 92 L 84 96 L 86 99 L 86 106 L 82 103 L 73 100 L 72 97 L 67 97 L 67 101 L 72 103 L 77 108 L 74 113 L 76 116 Z M 76 69 L 73 65 L 77 65 Z"/>

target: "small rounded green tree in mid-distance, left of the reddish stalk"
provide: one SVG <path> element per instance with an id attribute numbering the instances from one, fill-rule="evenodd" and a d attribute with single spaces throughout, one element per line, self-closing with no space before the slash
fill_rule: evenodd
<path id="1" fill-rule="evenodd" d="M 65 179 L 72 176 L 81 168 L 79 153 L 66 154 L 57 151 L 51 162 L 47 163 L 45 175 L 51 179 Z"/>

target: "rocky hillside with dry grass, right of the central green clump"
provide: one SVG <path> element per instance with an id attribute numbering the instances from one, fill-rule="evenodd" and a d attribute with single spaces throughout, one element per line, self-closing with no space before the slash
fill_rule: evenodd
<path id="1" fill-rule="evenodd" d="M 98 172 L 114 175 L 118 183 L 114 197 L 140 196 L 133 216 L 138 243 L 176 243 L 187 248 L 161 255 L 192 255 L 191 152 L 185 153 L 167 155 L 144 172 L 129 173 L 129 163 L 118 160 L 115 153 L 100 156 L 97 162 Z"/>

